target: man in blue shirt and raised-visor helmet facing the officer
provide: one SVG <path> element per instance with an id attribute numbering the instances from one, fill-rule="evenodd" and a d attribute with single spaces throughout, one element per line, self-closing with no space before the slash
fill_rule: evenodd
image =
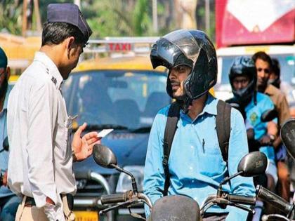
<path id="1" fill-rule="evenodd" d="M 171 106 L 160 109 L 155 116 L 145 161 L 145 194 L 152 203 L 165 194 L 182 194 L 201 204 L 206 196 L 216 194 L 226 175 L 236 173 L 237 164 L 248 153 L 242 115 L 231 109 L 225 161 L 216 133 L 218 100 L 208 92 L 217 79 L 216 51 L 204 32 L 183 29 L 166 34 L 152 47 L 150 58 L 154 68 L 162 65 L 169 69 L 166 91 L 176 99 L 180 109 L 170 159 L 164 154 L 163 145 Z M 164 168 L 169 172 L 167 189 Z M 223 187 L 230 193 L 254 195 L 251 178 L 238 177 Z M 247 212 L 239 208 L 213 207 L 203 220 L 246 220 L 246 217 Z"/>

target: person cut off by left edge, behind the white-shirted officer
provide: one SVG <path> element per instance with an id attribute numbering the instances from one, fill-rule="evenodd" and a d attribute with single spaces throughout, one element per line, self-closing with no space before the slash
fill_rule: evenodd
<path id="1" fill-rule="evenodd" d="M 0 220 L 13 221 L 20 203 L 20 198 L 15 196 L 7 186 L 8 152 L 2 144 L 7 137 L 7 102 L 11 89 L 8 87 L 8 79 L 11 69 L 7 66 L 7 57 L 0 47 L 0 169 L 3 175 L 3 185 L 0 187 Z"/>

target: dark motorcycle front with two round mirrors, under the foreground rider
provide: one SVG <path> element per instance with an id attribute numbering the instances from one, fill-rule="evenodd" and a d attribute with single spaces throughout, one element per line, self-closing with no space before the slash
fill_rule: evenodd
<path id="1" fill-rule="evenodd" d="M 109 208 L 100 210 L 100 215 L 107 213 L 110 210 L 117 208 L 129 208 L 129 213 L 133 217 L 138 217 L 145 220 L 144 217 L 136 213 L 131 212 L 131 206 L 137 203 L 145 203 L 150 208 L 150 217 L 147 220 L 159 221 L 159 220 L 202 220 L 202 216 L 208 208 L 214 205 L 221 206 L 225 208 L 226 206 L 236 206 L 243 210 L 247 210 L 254 213 L 252 208 L 248 208 L 245 205 L 254 206 L 256 203 L 255 196 L 237 196 L 229 194 L 223 191 L 222 185 L 229 182 L 232 178 L 238 175 L 252 177 L 260 173 L 265 172 L 267 165 L 266 156 L 261 152 L 252 152 L 243 157 L 238 166 L 238 172 L 235 175 L 225 178 L 221 182 L 218 188 L 217 194 L 214 196 L 209 196 L 204 203 L 202 203 L 201 209 L 198 203 L 188 196 L 164 196 L 152 203 L 148 196 L 143 193 L 138 192 L 136 180 L 129 171 L 120 168 L 117 165 L 117 158 L 114 153 L 103 145 L 94 145 L 93 147 L 93 159 L 98 163 L 98 165 L 105 168 L 115 168 L 119 172 L 126 173 L 131 177 L 132 190 L 129 190 L 122 194 L 108 194 L 102 195 L 100 198 L 100 203 L 103 205 L 112 205 Z"/>

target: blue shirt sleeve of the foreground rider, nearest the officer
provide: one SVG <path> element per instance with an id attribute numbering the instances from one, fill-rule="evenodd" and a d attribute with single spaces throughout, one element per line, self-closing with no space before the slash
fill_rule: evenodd
<path id="1" fill-rule="evenodd" d="M 150 198 L 152 203 L 163 196 L 164 190 L 164 169 L 162 166 L 163 156 L 163 139 L 162 131 L 160 130 L 161 115 L 157 114 L 147 145 L 147 155 L 145 158 L 145 174 L 143 181 L 143 189 L 145 194 Z M 145 206 L 145 215 L 150 215 L 150 209 Z"/>

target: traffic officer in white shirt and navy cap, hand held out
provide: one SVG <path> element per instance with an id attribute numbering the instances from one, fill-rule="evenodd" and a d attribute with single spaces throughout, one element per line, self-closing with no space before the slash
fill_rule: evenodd
<path id="1" fill-rule="evenodd" d="M 15 83 L 8 99 L 8 186 L 22 196 L 15 220 L 74 220 L 73 161 L 89 157 L 100 142 L 97 132 L 72 138 L 61 84 L 91 35 L 75 4 L 49 4 L 40 51 Z"/>

